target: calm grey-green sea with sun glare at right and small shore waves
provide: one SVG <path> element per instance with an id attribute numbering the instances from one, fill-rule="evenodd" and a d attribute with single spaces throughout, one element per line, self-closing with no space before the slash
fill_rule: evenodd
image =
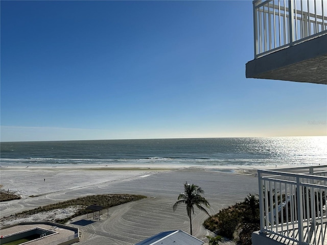
<path id="1" fill-rule="evenodd" d="M 165 164 L 269 166 L 327 163 L 327 137 L 2 142 L 1 165 Z"/>

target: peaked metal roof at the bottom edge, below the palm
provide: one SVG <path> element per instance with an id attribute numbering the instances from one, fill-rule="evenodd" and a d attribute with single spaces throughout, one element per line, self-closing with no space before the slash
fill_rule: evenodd
<path id="1" fill-rule="evenodd" d="M 160 232 L 135 245 L 202 245 L 204 241 L 181 230 Z"/>

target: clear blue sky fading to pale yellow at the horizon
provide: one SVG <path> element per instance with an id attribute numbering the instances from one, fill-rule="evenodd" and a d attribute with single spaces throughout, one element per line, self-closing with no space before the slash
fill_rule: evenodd
<path id="1" fill-rule="evenodd" d="M 327 135 L 253 57 L 252 1 L 1 1 L 1 141 Z"/>

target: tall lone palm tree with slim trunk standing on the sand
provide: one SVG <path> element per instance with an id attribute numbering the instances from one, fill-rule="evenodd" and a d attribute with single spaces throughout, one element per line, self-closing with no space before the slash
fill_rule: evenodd
<path id="1" fill-rule="evenodd" d="M 201 211 L 205 212 L 207 215 L 210 216 L 210 214 L 201 206 L 204 204 L 206 207 L 210 207 L 208 201 L 201 196 L 201 194 L 204 193 L 204 191 L 201 189 L 201 187 L 195 185 L 195 184 L 188 184 L 188 182 L 185 182 L 184 184 L 184 193 L 180 193 L 178 196 L 178 201 L 174 204 L 173 210 L 177 209 L 177 207 L 184 203 L 186 204 L 186 212 L 188 212 L 188 216 L 190 218 L 190 228 L 191 228 L 191 235 L 192 235 L 192 213 L 194 214 L 194 206 L 196 206 Z"/>

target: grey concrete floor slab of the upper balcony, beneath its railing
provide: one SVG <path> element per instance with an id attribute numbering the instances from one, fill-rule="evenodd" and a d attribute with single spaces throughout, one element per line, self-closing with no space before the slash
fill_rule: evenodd
<path id="1" fill-rule="evenodd" d="M 247 62 L 246 78 L 327 84 L 327 35 Z"/>

